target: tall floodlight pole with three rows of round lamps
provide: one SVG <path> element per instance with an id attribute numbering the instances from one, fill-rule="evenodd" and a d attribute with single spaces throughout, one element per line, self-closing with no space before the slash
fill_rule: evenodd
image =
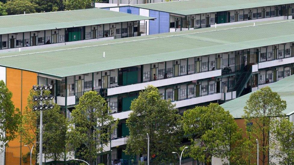
<path id="1" fill-rule="evenodd" d="M 39 164 L 42 164 L 43 162 L 43 109 L 52 109 L 54 107 L 54 105 L 52 104 L 44 104 L 42 100 L 52 100 L 54 98 L 54 96 L 52 96 L 51 94 L 48 96 L 43 96 L 43 90 L 50 90 L 52 89 L 53 86 L 48 84 L 48 85 L 33 85 L 33 90 L 38 90 L 40 91 L 40 96 L 34 96 L 33 97 L 33 101 L 40 101 L 39 105 L 35 105 L 33 106 L 33 111 L 39 110 L 40 111 L 40 139 L 39 139 Z"/>

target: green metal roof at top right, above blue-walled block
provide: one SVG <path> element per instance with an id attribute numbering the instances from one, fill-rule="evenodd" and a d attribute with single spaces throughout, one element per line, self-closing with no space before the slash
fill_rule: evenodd
<path id="1" fill-rule="evenodd" d="M 294 3 L 293 0 L 187 0 L 132 5 L 168 13 L 190 15 Z"/>

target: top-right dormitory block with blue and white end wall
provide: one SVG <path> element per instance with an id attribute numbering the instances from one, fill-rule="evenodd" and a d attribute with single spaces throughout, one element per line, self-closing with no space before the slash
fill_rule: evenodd
<path id="1" fill-rule="evenodd" d="M 188 0 L 104 8 L 155 17 L 147 21 L 149 34 L 183 31 L 236 23 L 292 19 L 294 1 Z M 292 10 L 293 8 L 293 10 Z"/>

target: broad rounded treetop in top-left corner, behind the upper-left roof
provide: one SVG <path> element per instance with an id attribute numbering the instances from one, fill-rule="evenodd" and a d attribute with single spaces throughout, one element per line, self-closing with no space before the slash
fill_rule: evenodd
<path id="1" fill-rule="evenodd" d="M 26 14 L 35 13 L 35 8 L 38 6 L 31 3 L 29 0 L 10 0 L 4 5 L 8 15 L 23 14 L 24 12 L 26 12 Z"/>

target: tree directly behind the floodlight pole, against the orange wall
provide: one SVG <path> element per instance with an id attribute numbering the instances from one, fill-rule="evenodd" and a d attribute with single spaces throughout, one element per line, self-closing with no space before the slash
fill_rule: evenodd
<path id="1" fill-rule="evenodd" d="M 43 90 L 43 95 L 49 94 L 50 91 Z M 30 146 L 39 141 L 40 111 L 32 110 L 33 106 L 37 105 L 32 98 L 39 95 L 40 91 L 30 90 L 19 129 L 22 142 Z M 49 103 L 53 102 L 43 101 L 43 104 Z M 67 126 L 67 119 L 61 113 L 59 105 L 54 104 L 54 108 L 43 110 L 43 153 L 47 159 L 58 160 L 64 157 Z"/>

